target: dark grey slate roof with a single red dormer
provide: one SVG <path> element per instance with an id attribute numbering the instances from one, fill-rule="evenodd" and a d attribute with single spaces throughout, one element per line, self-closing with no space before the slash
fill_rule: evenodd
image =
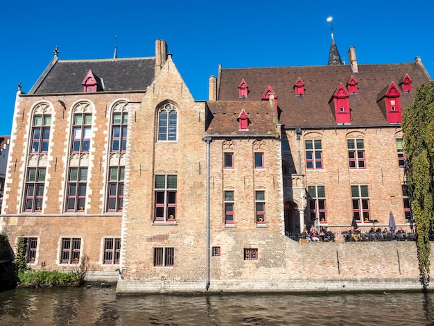
<path id="1" fill-rule="evenodd" d="M 28 94 L 83 92 L 87 72 L 102 79 L 105 92 L 144 91 L 153 82 L 155 57 L 57 60 L 55 57 Z"/>

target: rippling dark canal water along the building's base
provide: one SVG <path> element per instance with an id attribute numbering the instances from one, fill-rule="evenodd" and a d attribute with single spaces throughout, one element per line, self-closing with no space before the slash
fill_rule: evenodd
<path id="1" fill-rule="evenodd" d="M 434 293 L 117 295 L 0 292 L 0 325 L 434 325 Z"/>

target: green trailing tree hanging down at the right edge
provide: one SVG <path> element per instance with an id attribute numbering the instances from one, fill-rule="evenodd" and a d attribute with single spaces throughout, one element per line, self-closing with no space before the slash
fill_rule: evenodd
<path id="1" fill-rule="evenodd" d="M 407 183 L 413 197 L 416 223 L 417 259 L 422 290 L 429 284 L 431 245 L 434 225 L 434 83 L 417 87 L 415 99 L 403 110 L 402 129 L 408 164 Z"/>

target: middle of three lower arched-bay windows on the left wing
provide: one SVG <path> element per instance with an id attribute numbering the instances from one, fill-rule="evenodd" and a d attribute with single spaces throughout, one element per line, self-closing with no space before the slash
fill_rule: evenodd
<path id="1" fill-rule="evenodd" d="M 86 203 L 87 168 L 69 168 L 67 211 L 84 212 Z"/>

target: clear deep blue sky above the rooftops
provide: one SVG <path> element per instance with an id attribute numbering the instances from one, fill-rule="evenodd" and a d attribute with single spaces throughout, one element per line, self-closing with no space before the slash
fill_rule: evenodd
<path id="1" fill-rule="evenodd" d="M 151 3 L 149 3 L 151 2 Z M 19 82 L 28 92 L 59 46 L 60 60 L 168 52 L 196 100 L 223 68 L 327 65 L 330 27 L 342 59 L 422 62 L 434 77 L 434 3 L 424 1 L 6 1 L 1 5 L 0 135 L 10 135 Z"/>

